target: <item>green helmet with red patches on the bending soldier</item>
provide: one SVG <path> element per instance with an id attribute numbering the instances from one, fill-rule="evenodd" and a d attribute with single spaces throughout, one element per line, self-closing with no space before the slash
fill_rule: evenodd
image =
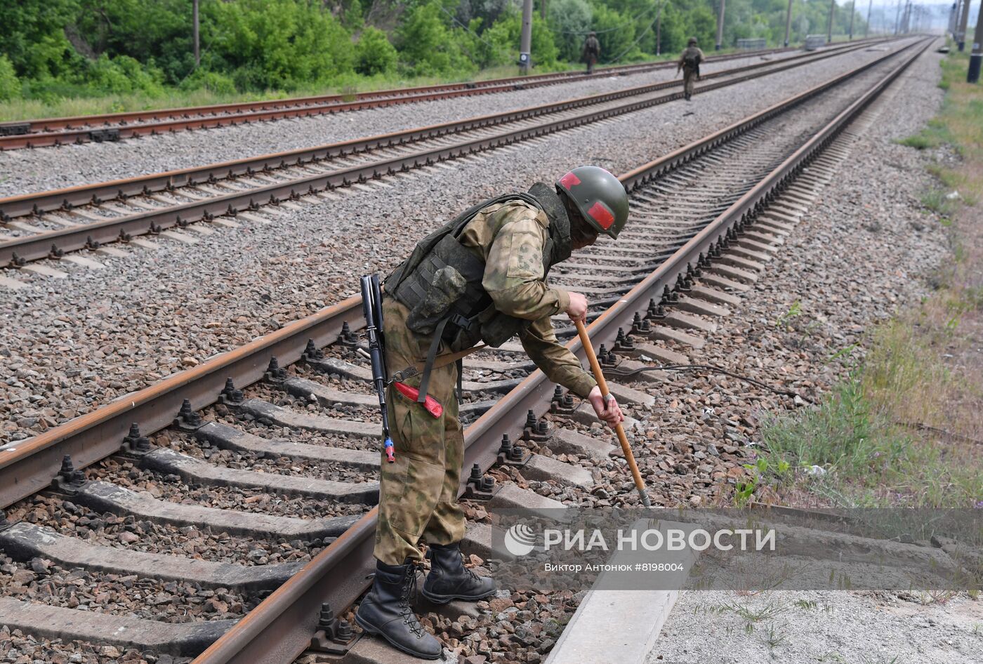
<path id="1" fill-rule="evenodd" d="M 599 233 L 617 240 L 628 221 L 628 194 L 613 175 L 599 166 L 578 166 L 556 181 L 581 216 Z"/>

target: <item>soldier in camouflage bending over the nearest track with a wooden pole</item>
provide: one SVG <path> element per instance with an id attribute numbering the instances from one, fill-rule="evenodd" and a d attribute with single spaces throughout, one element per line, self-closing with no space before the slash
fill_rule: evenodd
<path id="1" fill-rule="evenodd" d="M 439 642 L 410 606 L 421 539 L 431 560 L 422 591 L 428 599 L 477 601 L 495 591 L 494 581 L 476 576 L 461 561 L 465 520 L 457 493 L 464 436 L 455 394 L 460 364 L 441 358 L 479 341 L 498 346 L 514 334 L 549 380 L 588 399 L 610 426 L 624 419 L 553 333 L 549 317 L 565 312 L 571 320 L 585 320 L 587 299 L 549 287 L 546 277 L 551 265 L 593 245 L 600 233 L 616 238 L 627 217 L 621 183 L 602 168 L 582 166 L 554 187 L 537 183 L 529 193 L 473 206 L 421 241 L 386 279 L 385 360 L 393 375 L 386 403 L 396 461 L 381 463 L 376 578 L 356 615 L 367 632 L 417 657 L 439 656 Z M 419 389 L 419 399 L 397 390 L 396 381 Z M 442 413 L 421 403 L 426 395 Z"/>

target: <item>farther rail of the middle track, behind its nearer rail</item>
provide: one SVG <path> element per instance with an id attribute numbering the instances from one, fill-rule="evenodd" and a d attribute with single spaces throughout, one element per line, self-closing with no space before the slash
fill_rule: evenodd
<path id="1" fill-rule="evenodd" d="M 796 63 L 796 66 L 812 64 L 820 60 L 837 57 L 845 53 L 863 48 L 863 46 L 851 46 L 838 49 L 836 52 L 815 52 L 803 53 L 791 58 L 786 58 L 781 62 L 764 62 L 733 69 L 714 72 L 703 77 L 704 80 L 717 79 L 732 76 L 737 73 L 754 71 L 767 67 L 781 67 L 777 72 L 791 69 L 786 65 Z M 800 62 L 808 60 L 807 63 Z M 773 72 L 768 72 L 771 74 Z M 574 97 L 558 102 L 527 106 L 514 111 L 502 113 L 492 113 L 489 115 L 466 118 L 463 120 L 452 120 L 450 122 L 418 127 L 409 130 L 391 132 L 368 138 L 352 138 L 333 143 L 325 143 L 315 147 L 302 147 L 284 152 L 274 152 L 262 154 L 256 157 L 247 157 L 232 161 L 217 162 L 204 166 L 194 166 L 161 173 L 151 173 L 149 175 L 137 176 L 122 180 L 113 180 L 104 183 L 91 185 L 80 185 L 46 192 L 33 194 L 19 194 L 13 196 L 0 197 L 0 221 L 10 221 L 17 217 L 28 216 L 38 212 L 48 212 L 54 210 L 72 209 L 79 205 L 87 205 L 93 201 L 107 201 L 125 199 L 129 196 L 149 194 L 154 192 L 171 191 L 176 187 L 184 187 L 195 184 L 213 183 L 216 180 L 234 178 L 241 175 L 250 175 L 257 171 L 281 168 L 289 165 L 300 165 L 319 160 L 337 157 L 346 154 L 364 152 L 373 149 L 392 147 L 394 145 L 405 145 L 407 143 L 424 140 L 427 138 L 439 138 L 451 134 L 484 129 L 499 124 L 535 118 L 549 113 L 556 113 L 573 108 L 581 108 L 593 104 L 615 101 L 617 99 L 637 96 L 655 92 L 668 87 L 682 85 L 681 81 L 664 81 L 660 83 L 649 83 L 626 87 L 613 92 L 601 92 L 584 97 Z"/>

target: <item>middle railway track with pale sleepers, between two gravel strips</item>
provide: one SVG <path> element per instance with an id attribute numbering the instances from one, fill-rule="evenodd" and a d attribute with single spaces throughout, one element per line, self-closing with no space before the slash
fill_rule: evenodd
<path id="1" fill-rule="evenodd" d="M 697 93 L 863 47 L 723 70 L 704 77 L 706 83 Z M 299 201 L 330 199 L 338 188 L 380 183 L 399 172 L 604 121 L 678 99 L 679 88 L 680 81 L 652 83 L 315 148 L 0 198 L 0 222 L 7 231 L 0 239 L 0 265 L 18 268 L 29 261 L 161 233 L 189 242 L 180 230 L 208 233 L 207 223 L 195 225 L 202 221 L 225 226 L 236 226 L 237 218 L 263 223 L 269 219 L 257 216 L 260 209 L 275 213 Z"/>

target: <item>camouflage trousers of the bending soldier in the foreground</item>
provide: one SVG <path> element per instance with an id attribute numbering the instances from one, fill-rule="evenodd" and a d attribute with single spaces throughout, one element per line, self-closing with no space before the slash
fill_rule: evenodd
<path id="1" fill-rule="evenodd" d="M 385 362 L 389 373 L 426 360 L 431 337 L 406 327 L 409 309 L 391 298 L 382 299 Z M 440 353 L 446 352 L 441 343 Z M 405 382 L 420 386 L 422 376 Z M 457 417 L 457 366 L 434 368 L 427 392 L 443 406 L 443 415 L 430 415 L 423 405 L 386 390 L 389 427 L 396 462 L 381 454 L 376 525 L 376 559 L 402 565 L 407 558 L 422 559 L 417 542 L 452 544 L 464 537 L 464 511 L 457 504 L 464 434 Z"/>

